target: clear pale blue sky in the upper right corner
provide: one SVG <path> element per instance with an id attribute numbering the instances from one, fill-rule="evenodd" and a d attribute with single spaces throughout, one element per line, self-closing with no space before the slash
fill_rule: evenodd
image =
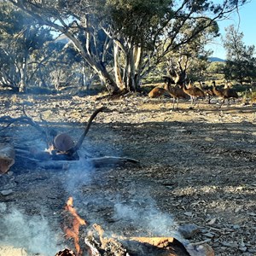
<path id="1" fill-rule="evenodd" d="M 245 45 L 256 46 L 256 0 L 251 0 L 250 3 L 243 5 L 239 9 L 239 14 L 230 15 L 229 20 L 218 21 L 219 32 L 222 36 L 225 35 L 224 28 L 234 25 L 239 32 L 243 33 L 243 43 Z M 225 59 L 225 49 L 221 39 L 215 39 L 216 42 L 209 44 L 207 49 L 213 50 L 213 57 Z"/>

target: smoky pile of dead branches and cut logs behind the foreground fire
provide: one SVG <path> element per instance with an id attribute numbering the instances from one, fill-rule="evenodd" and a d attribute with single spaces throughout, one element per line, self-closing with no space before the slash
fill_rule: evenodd
<path id="1" fill-rule="evenodd" d="M 84 138 L 90 130 L 90 125 L 96 115 L 101 112 L 108 112 L 109 109 L 102 107 L 96 109 L 90 116 L 87 125 L 84 126 L 84 131 L 75 143 L 73 138 L 66 132 L 58 133 L 55 129 L 49 127 L 47 122 L 43 120 L 42 123 L 46 125 L 38 125 L 32 118 L 26 115 L 23 109 L 24 116 L 19 118 L 11 118 L 3 116 L 0 118 L 0 124 L 7 124 L 3 129 L 7 129 L 14 123 L 21 123 L 31 125 L 39 131 L 42 140 L 47 148 L 38 148 L 32 145 L 29 148 L 24 148 L 23 145 L 14 147 L 11 143 L 0 145 L 0 174 L 9 171 L 9 168 L 15 163 L 15 156 L 23 159 L 25 162 L 32 161 L 32 163 L 52 169 L 67 169 L 69 166 L 77 165 L 79 160 L 87 160 L 92 166 L 106 166 L 106 165 L 124 165 L 127 162 L 138 164 L 137 160 L 117 157 L 117 156 L 104 156 L 99 158 L 84 159 L 84 156 L 79 154 Z M 3 130 L 2 129 L 2 130 Z"/>

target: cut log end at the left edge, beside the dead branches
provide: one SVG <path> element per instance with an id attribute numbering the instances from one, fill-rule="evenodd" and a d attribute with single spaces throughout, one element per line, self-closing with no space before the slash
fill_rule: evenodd
<path id="1" fill-rule="evenodd" d="M 9 144 L 0 144 L 0 174 L 9 171 L 15 163 L 15 149 Z"/>

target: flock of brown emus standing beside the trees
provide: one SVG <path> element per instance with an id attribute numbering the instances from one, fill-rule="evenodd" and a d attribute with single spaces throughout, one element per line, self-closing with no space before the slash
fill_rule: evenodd
<path id="1" fill-rule="evenodd" d="M 155 87 L 148 93 L 148 96 L 150 98 L 156 98 L 166 94 L 166 92 L 172 96 L 172 109 L 174 109 L 175 102 L 177 102 L 178 108 L 178 100 L 180 98 L 187 99 L 188 97 L 190 97 L 190 108 L 192 107 L 192 105 L 195 105 L 200 98 L 207 98 L 208 103 L 211 103 L 211 99 L 213 96 L 221 98 L 222 102 L 219 108 L 221 108 L 226 99 L 228 100 L 228 104 L 230 105 L 230 99 L 233 99 L 235 102 L 235 99 L 238 98 L 236 90 L 231 89 L 228 84 L 226 84 L 224 88 L 217 88 L 215 81 L 212 82 L 212 86 L 203 86 L 201 81 L 199 82 L 198 86 L 195 86 L 195 84 L 192 83 L 191 80 L 189 80 L 188 84 L 172 84 L 170 79 L 166 79 L 164 88 Z"/>

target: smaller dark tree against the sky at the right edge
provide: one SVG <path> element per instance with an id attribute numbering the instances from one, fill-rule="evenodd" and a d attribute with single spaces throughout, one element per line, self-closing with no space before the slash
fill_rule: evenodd
<path id="1" fill-rule="evenodd" d="M 255 46 L 245 45 L 242 41 L 243 33 L 238 32 L 234 26 L 229 26 L 225 30 L 225 79 L 236 79 L 241 84 L 244 81 L 253 81 L 256 79 Z"/>

